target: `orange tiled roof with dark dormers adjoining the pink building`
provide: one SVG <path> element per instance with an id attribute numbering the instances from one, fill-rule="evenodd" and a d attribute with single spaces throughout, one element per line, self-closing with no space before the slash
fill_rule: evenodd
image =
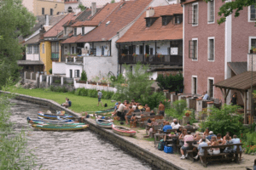
<path id="1" fill-rule="evenodd" d="M 154 7 L 154 16 L 183 14 L 180 4 Z M 183 24 L 174 25 L 172 20 L 167 26 L 162 26 L 162 18 L 158 18 L 150 27 L 146 27 L 146 12 L 134 23 L 125 35 L 117 42 L 142 42 L 183 39 Z"/>

